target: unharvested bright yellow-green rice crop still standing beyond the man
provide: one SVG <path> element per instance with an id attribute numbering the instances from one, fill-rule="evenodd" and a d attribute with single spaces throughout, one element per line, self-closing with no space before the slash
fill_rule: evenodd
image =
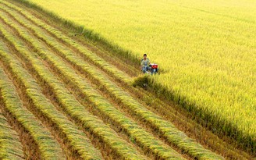
<path id="1" fill-rule="evenodd" d="M 155 79 L 175 93 L 174 99 L 184 98 L 256 140 L 256 2 L 30 2 L 137 56 L 148 53 L 151 62 L 165 69 Z"/>

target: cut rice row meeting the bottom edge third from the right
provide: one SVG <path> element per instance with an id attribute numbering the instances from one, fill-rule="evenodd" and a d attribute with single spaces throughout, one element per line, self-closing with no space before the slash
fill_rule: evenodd
<path id="1" fill-rule="evenodd" d="M 37 60 L 35 55 L 33 58 L 33 54 L 30 52 L 23 51 L 20 53 L 30 60 L 39 76 L 41 76 L 49 86 L 54 88 L 55 94 L 57 95 L 56 97 L 59 98 L 59 101 L 66 112 L 69 112 L 69 115 L 74 119 L 77 119 L 78 122 L 83 123 L 85 129 L 90 129 L 91 132 L 95 133 L 98 137 L 101 137 L 102 140 L 105 140 L 106 144 L 109 144 L 109 148 L 116 151 L 119 154 L 119 157 L 128 159 L 144 159 L 136 149 L 132 148 L 124 140 L 121 140 L 113 130 L 103 124 L 96 117 L 91 116 L 90 113 L 86 112 L 84 106 L 80 105 L 76 99 L 66 91 L 62 83 L 55 79 L 55 76 L 53 76 L 52 73 L 50 73 L 48 69 Z"/>

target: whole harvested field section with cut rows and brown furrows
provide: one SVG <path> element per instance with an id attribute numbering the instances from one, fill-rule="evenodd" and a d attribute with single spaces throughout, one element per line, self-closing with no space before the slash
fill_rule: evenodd
<path id="1" fill-rule="evenodd" d="M 137 69 L 51 20 L 0 2 L 0 159 L 253 157 L 133 87 Z"/>

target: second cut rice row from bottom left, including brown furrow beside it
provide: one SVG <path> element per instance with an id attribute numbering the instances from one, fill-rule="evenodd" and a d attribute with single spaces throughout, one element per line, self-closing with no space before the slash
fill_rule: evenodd
<path id="1" fill-rule="evenodd" d="M 5 44 L 0 41 L 0 54 L 10 54 Z M 2 57 L 2 56 L 1 56 Z M 8 76 L 1 69 L 0 88 L 2 96 L 2 111 L 14 123 L 20 133 L 26 158 L 59 158 L 65 156 L 51 133 L 38 121 L 34 115 L 23 106 L 23 102 L 16 94 L 16 89 Z M 38 132 L 40 130 L 40 132 Z"/>

